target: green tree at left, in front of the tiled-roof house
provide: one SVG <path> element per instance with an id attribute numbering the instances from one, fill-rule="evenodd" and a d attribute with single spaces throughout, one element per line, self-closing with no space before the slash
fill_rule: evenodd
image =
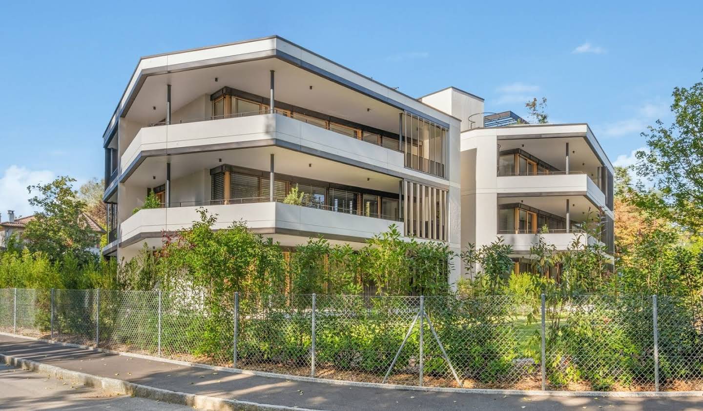
<path id="1" fill-rule="evenodd" d="M 25 239 L 32 252 L 43 252 L 52 261 L 72 255 L 80 262 L 94 261 L 89 251 L 98 242 L 97 234 L 86 223 L 85 202 L 71 184 L 75 179 L 62 176 L 49 184 L 30 185 L 35 193 L 30 204 L 41 210 L 27 223 Z"/>

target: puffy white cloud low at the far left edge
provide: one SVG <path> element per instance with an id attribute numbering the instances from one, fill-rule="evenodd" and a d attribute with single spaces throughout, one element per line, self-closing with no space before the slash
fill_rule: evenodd
<path id="1" fill-rule="evenodd" d="M 7 219 L 7 210 L 15 211 L 15 216 L 27 216 L 34 212 L 27 202 L 30 193 L 27 186 L 50 183 L 56 175 L 49 170 L 30 170 L 26 167 L 11 165 L 0 176 L 0 213 L 2 220 Z"/>

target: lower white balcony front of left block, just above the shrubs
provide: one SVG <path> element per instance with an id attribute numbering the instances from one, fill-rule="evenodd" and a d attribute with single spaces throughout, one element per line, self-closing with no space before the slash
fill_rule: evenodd
<path id="1" fill-rule="evenodd" d="M 269 198 L 252 197 L 212 202 L 179 202 L 171 207 L 142 209 L 120 225 L 120 247 L 136 244 L 147 238 L 161 237 L 164 232 L 183 230 L 199 221 L 198 210 L 205 207 L 217 214 L 214 229 L 231 226 L 233 221 L 246 221 L 254 232 L 262 234 L 295 235 L 299 242 L 307 237 L 323 235 L 328 239 L 362 242 L 387 230 L 391 224 L 403 230 L 396 218 L 365 215 L 358 210 L 324 204 L 284 204 Z"/>

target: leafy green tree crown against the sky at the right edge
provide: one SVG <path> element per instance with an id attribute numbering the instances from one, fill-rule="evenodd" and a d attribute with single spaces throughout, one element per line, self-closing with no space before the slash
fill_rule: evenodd
<path id="1" fill-rule="evenodd" d="M 703 234 L 703 82 L 673 89 L 674 122 L 642 133 L 648 152 L 636 153 L 635 204 L 694 234 Z M 647 184 L 648 183 L 648 184 Z"/>

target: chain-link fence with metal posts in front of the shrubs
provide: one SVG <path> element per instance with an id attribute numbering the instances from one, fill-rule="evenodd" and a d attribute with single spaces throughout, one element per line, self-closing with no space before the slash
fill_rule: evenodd
<path id="1" fill-rule="evenodd" d="M 349 381 L 703 389 L 700 297 L 0 289 L 0 331 Z"/>

